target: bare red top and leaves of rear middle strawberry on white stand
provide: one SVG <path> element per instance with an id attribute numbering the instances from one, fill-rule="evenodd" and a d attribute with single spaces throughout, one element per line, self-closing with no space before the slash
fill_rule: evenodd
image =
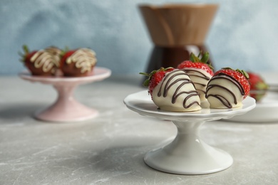
<path id="1" fill-rule="evenodd" d="M 202 53 L 199 53 L 199 56 L 195 56 L 194 53 L 191 53 L 190 60 L 185 60 L 177 65 L 177 69 L 198 68 L 205 70 L 207 73 L 210 73 L 210 75 L 213 75 L 212 65 L 207 63 L 208 59 L 210 58 L 210 54 L 206 52 L 204 55 L 202 55 L 202 58 L 200 58 L 201 54 Z"/>

